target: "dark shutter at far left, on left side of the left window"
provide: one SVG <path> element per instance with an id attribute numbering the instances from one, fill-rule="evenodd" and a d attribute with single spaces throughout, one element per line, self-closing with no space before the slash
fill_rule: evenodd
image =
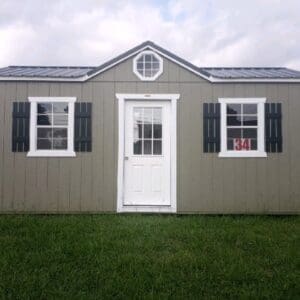
<path id="1" fill-rule="evenodd" d="M 29 102 L 13 102 L 12 151 L 29 151 Z"/>

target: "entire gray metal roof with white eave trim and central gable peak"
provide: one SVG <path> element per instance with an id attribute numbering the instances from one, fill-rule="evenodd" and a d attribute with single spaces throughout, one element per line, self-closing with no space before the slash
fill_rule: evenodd
<path id="1" fill-rule="evenodd" d="M 185 59 L 175 55 L 174 53 L 154 44 L 151 41 L 146 41 L 121 55 L 105 62 L 98 67 L 81 67 L 81 66 L 9 66 L 0 68 L 0 80 L 79 80 L 84 81 L 104 70 L 111 68 L 115 64 L 123 61 L 124 59 L 138 53 L 145 49 L 152 49 L 165 55 L 167 58 L 175 61 L 176 63 L 186 67 L 187 69 L 195 72 L 211 81 L 217 80 L 289 80 L 300 79 L 300 71 L 291 70 L 288 68 L 199 68 Z M 11 79 L 10 79 L 11 78 Z M 29 78 L 29 79 L 28 79 Z"/>

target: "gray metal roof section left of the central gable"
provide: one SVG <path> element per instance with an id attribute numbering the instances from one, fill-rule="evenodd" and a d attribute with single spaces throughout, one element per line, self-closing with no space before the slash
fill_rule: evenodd
<path id="1" fill-rule="evenodd" d="M 79 78 L 95 67 L 9 66 L 0 69 L 0 77 Z"/>

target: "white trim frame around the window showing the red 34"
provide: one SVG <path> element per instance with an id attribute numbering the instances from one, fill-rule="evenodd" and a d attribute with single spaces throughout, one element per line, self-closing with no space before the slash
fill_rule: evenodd
<path id="1" fill-rule="evenodd" d="M 221 152 L 219 157 L 267 157 L 265 151 L 265 104 L 266 98 L 219 98 L 221 104 Z M 226 104 L 257 104 L 257 150 L 227 150 Z"/>

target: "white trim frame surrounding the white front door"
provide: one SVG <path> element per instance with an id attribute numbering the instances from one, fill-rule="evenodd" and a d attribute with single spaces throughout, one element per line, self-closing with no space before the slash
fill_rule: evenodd
<path id="1" fill-rule="evenodd" d="M 177 100 L 179 94 L 116 94 L 119 100 L 119 151 L 118 151 L 118 193 L 117 193 L 117 212 L 159 212 L 176 213 L 177 212 L 177 187 L 176 187 L 176 169 L 177 169 Z M 170 206 L 126 206 L 123 205 L 124 198 L 124 154 L 125 154 L 125 101 L 171 101 L 171 205 Z"/>

